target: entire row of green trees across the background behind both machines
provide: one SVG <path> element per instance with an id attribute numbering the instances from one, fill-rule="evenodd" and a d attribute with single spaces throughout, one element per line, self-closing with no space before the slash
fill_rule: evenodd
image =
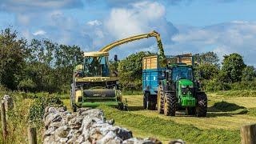
<path id="1" fill-rule="evenodd" d="M 50 93 L 68 91 L 76 62 L 82 62 L 79 46 L 67 46 L 49 39 L 18 38 L 7 28 L 0 34 L 0 85 L 10 90 Z M 118 63 L 119 82 L 123 90 L 142 90 L 142 58 L 150 52 L 130 54 Z M 195 74 L 205 90 L 244 90 L 256 88 L 254 66 L 246 66 L 240 54 L 194 54 Z"/>

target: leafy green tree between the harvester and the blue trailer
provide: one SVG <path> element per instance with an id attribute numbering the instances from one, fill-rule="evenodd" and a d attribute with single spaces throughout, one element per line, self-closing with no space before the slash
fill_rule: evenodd
<path id="1" fill-rule="evenodd" d="M 118 63 L 119 82 L 124 90 L 142 89 L 142 58 L 150 55 L 153 54 L 141 51 Z"/>

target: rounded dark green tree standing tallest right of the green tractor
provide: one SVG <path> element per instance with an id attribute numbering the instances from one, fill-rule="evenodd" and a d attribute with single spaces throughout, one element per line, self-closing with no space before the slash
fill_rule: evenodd
<path id="1" fill-rule="evenodd" d="M 225 55 L 222 62 L 222 73 L 226 73 L 229 82 L 240 82 L 242 70 L 246 67 L 240 54 Z"/>

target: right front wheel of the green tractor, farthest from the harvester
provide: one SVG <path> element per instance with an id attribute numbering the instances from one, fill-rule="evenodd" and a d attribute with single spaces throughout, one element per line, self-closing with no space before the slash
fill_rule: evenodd
<path id="1" fill-rule="evenodd" d="M 196 113 L 198 117 L 206 117 L 207 114 L 207 96 L 206 93 L 197 94 Z"/>

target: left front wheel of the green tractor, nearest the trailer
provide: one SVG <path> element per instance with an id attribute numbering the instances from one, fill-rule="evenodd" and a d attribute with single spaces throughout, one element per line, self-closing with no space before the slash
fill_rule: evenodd
<path id="1" fill-rule="evenodd" d="M 174 92 L 166 92 L 164 98 L 164 114 L 166 116 L 175 116 L 176 112 L 176 94 Z"/>

